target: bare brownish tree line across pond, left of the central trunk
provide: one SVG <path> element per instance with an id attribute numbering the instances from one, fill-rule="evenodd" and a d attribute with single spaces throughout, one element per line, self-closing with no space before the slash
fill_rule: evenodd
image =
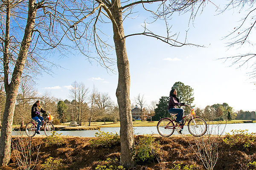
<path id="1" fill-rule="evenodd" d="M 55 98 L 49 91 L 39 95 L 35 89 L 35 82 L 28 77 L 21 79 L 15 104 L 14 124 L 24 126 L 31 121 L 31 107 L 36 100 L 41 101 L 41 106 L 50 111 L 55 117 L 54 123 L 77 122 L 79 125 L 89 122 L 116 122 L 119 120 L 118 106 L 113 102 L 108 93 L 98 92 L 94 87 L 91 91 L 83 82 L 73 82 L 69 99 Z M 0 95 L 0 116 L 5 105 L 5 92 Z M 43 116 L 46 116 L 43 114 Z"/>

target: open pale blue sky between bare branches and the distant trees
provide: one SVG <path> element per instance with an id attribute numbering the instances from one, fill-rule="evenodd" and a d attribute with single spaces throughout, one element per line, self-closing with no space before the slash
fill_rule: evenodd
<path id="1" fill-rule="evenodd" d="M 253 80 L 247 75 L 250 68 L 237 68 L 238 65 L 229 67 L 230 61 L 216 60 L 255 50 L 249 45 L 228 49 L 226 43 L 229 40 L 222 40 L 239 25 L 238 21 L 244 13 L 237 14 L 237 11 L 230 10 L 217 15 L 216 10 L 216 6 L 208 3 L 189 26 L 188 15 L 175 16 L 170 21 L 172 31 L 180 34 L 180 40 L 184 39 L 186 30 L 189 30 L 188 42 L 204 45 L 205 48 L 170 47 L 159 40 L 143 36 L 126 39 L 131 73 L 131 102 L 138 94 L 144 94 L 148 104 L 152 100 L 159 100 L 161 96 L 169 96 L 172 85 L 180 81 L 194 89 L 196 107 L 204 108 L 227 102 L 235 110 L 256 110 L 256 85 L 251 83 Z M 141 13 L 136 19 L 125 20 L 125 34 L 142 32 L 141 25 L 146 19 L 150 20 L 146 13 Z M 148 25 L 148 28 L 159 34 L 165 31 L 161 22 Z M 112 30 L 112 27 L 107 29 Z M 113 43 L 112 37 L 109 42 Z M 116 102 L 117 74 L 106 71 L 97 62 L 89 63 L 86 57 L 79 54 L 52 59 L 65 69 L 56 68 L 52 76 L 43 74 L 38 81 L 39 93 L 50 91 L 52 96 L 69 99 L 70 85 L 77 81 L 83 82 L 90 89 L 95 85 L 98 91 L 107 92 Z M 116 65 L 113 68 L 116 69 Z"/>

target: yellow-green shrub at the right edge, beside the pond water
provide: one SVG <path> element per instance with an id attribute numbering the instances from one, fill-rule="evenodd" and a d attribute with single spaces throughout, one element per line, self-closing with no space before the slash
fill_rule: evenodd
<path id="1" fill-rule="evenodd" d="M 231 130 L 233 133 L 226 133 L 223 142 L 229 147 L 236 147 L 242 145 L 244 148 L 250 147 L 251 144 L 256 140 L 256 133 L 248 133 L 248 130 Z"/>

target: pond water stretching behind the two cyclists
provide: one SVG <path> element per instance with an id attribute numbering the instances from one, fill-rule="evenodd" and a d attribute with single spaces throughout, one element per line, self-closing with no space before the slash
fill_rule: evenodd
<path id="1" fill-rule="evenodd" d="M 223 134 L 230 133 L 231 130 L 248 130 L 248 133 L 256 133 L 256 123 L 237 123 L 237 124 L 222 124 L 222 125 L 209 125 L 207 133 L 210 134 Z M 103 132 L 109 132 L 109 133 L 118 133 L 120 127 L 101 127 L 101 131 Z M 95 137 L 95 133 L 99 132 L 99 130 L 75 130 L 75 131 L 56 131 L 56 133 L 61 135 L 69 135 L 69 136 L 81 136 L 81 137 Z M 22 133 L 23 135 L 26 135 L 24 131 L 18 132 L 13 131 L 12 135 L 20 135 Z M 183 130 L 184 134 L 190 134 L 188 127 L 184 126 Z M 143 135 L 143 134 L 158 134 L 157 127 L 151 126 L 151 127 L 134 127 L 134 134 L 135 135 Z M 174 135 L 178 134 L 175 130 Z M 40 135 L 44 135 L 44 132 L 42 131 Z"/>

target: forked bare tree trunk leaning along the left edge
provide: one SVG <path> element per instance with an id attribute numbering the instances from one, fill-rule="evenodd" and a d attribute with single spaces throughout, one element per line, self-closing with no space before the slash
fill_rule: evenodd
<path id="1" fill-rule="evenodd" d="M 9 46 L 9 21 L 10 21 L 10 3 L 6 2 L 6 39 L 5 39 L 5 52 L 4 52 L 4 82 L 6 90 L 6 105 L 3 113 L 1 137 L 0 137 L 0 165 L 6 165 L 10 161 L 11 156 L 11 139 L 12 139 L 12 123 L 15 110 L 15 102 L 17 98 L 18 88 L 20 85 L 20 77 L 26 61 L 28 48 L 31 42 L 33 28 L 35 25 L 35 16 L 37 6 L 35 0 L 29 0 L 29 11 L 24 31 L 24 37 L 20 45 L 20 52 L 18 54 L 17 62 L 12 74 L 12 79 L 9 84 L 9 59 L 8 59 L 8 46 Z M 8 32 L 8 34 L 7 34 Z"/>

